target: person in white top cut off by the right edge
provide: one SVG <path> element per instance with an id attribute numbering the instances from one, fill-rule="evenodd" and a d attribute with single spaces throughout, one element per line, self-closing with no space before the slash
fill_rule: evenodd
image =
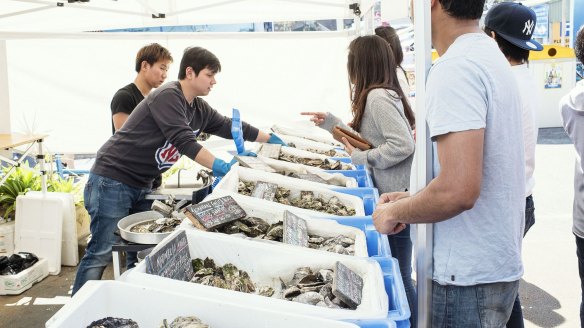
<path id="1" fill-rule="evenodd" d="M 576 58 L 584 64 L 584 27 L 574 42 Z M 560 112 L 564 129 L 576 148 L 576 165 L 574 170 L 574 207 L 572 232 L 576 236 L 576 256 L 580 274 L 580 326 L 584 327 L 584 80 L 565 95 L 560 101 Z"/>

